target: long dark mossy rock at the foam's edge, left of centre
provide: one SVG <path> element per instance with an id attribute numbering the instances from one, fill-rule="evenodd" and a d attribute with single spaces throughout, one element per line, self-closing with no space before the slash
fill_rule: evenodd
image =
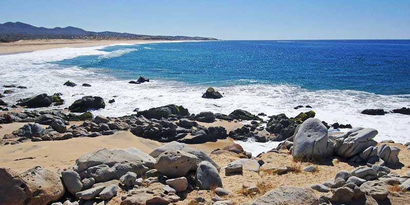
<path id="1" fill-rule="evenodd" d="M 188 109 L 183 108 L 182 106 L 176 105 L 167 105 L 158 108 L 151 108 L 149 110 L 138 111 L 137 116 L 144 116 L 148 119 L 161 119 L 168 118 L 170 115 L 182 115 L 187 116 L 190 115 Z"/>

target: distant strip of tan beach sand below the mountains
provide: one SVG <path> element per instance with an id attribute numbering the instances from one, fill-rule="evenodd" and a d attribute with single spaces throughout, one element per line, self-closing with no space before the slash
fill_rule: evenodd
<path id="1" fill-rule="evenodd" d="M 84 39 L 36 39 L 18 40 L 12 43 L 0 43 L 0 55 L 32 52 L 54 48 L 75 48 L 103 46 L 111 44 L 153 43 L 165 40 L 84 40 Z"/>

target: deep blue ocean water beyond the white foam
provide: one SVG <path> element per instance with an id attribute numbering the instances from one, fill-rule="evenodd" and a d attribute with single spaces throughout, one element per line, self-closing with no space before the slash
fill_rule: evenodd
<path id="1" fill-rule="evenodd" d="M 63 67 L 191 85 L 286 84 L 308 90 L 410 94 L 410 40 L 229 40 L 119 45 Z"/>

